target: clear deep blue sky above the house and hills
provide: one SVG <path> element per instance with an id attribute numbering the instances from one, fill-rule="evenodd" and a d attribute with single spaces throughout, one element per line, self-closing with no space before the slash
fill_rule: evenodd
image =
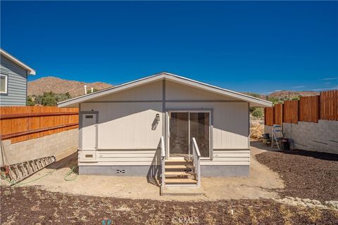
<path id="1" fill-rule="evenodd" d="M 338 2 L 1 1 L 1 48 L 30 79 L 166 71 L 260 94 L 337 89 Z"/>

